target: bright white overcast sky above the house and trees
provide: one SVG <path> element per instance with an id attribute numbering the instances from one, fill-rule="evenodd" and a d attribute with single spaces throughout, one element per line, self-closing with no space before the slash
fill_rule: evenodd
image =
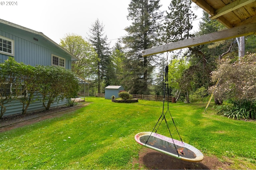
<path id="1" fill-rule="evenodd" d="M 14 0 L 14 5 L 0 0 L 0 19 L 44 33 L 60 43 L 67 33 L 86 38 L 92 23 L 98 18 L 111 47 L 118 38 L 126 35 L 124 28 L 130 0 Z M 161 10 L 168 10 L 170 0 L 160 0 Z M 196 6 L 193 4 L 193 6 Z M 197 15 L 201 15 L 198 13 Z M 198 17 L 199 18 L 199 17 Z M 193 22 L 198 26 L 199 20 Z M 109 41 L 109 42 L 110 42 Z"/>

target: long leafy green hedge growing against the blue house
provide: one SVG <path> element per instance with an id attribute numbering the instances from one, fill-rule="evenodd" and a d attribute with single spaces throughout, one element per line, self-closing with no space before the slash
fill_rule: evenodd
<path id="1" fill-rule="evenodd" d="M 79 89 L 75 75 L 58 66 L 28 66 L 9 57 L 0 63 L 0 118 L 6 112 L 6 104 L 13 100 L 22 103 L 21 113 L 26 113 L 35 95 L 40 98 L 45 109 L 54 102 L 74 97 Z"/>

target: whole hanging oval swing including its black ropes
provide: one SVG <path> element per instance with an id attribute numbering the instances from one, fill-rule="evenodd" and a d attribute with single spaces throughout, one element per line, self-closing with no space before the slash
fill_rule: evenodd
<path id="1" fill-rule="evenodd" d="M 168 57 L 168 53 L 167 53 Z M 167 58 L 167 63 L 165 67 L 165 85 L 164 85 L 164 100 L 163 100 L 163 109 L 162 109 L 162 115 L 160 115 L 160 118 L 158 119 L 158 122 L 156 123 L 153 131 L 156 129 L 157 125 L 158 127 L 162 123 L 163 120 L 165 120 L 166 125 L 168 127 L 168 130 L 170 132 L 168 123 L 166 121 L 166 113 L 170 113 L 170 117 L 172 118 L 171 112 L 169 110 L 169 100 L 167 100 L 167 110 L 164 112 L 164 103 L 165 103 L 165 94 L 166 94 L 166 87 L 167 87 L 167 97 L 169 98 L 169 86 L 168 86 L 168 58 Z M 161 119 L 162 118 L 162 119 Z M 161 121 L 160 121 L 161 120 Z M 172 118 L 172 122 L 174 126 L 176 127 L 174 123 L 174 119 Z M 158 129 L 157 127 L 157 129 Z M 155 132 L 157 132 L 157 129 Z M 173 139 L 172 134 L 170 132 L 170 136 L 166 137 L 163 135 L 159 135 L 158 133 L 154 132 L 140 132 L 135 135 L 135 140 L 137 143 L 140 145 L 143 145 L 145 147 L 148 147 L 150 149 L 157 150 L 159 152 L 162 152 L 164 154 L 173 156 L 175 158 L 181 159 L 181 160 L 186 160 L 190 162 L 200 162 L 204 159 L 204 155 L 200 150 L 196 149 L 195 147 L 184 143 L 180 137 L 180 141 Z M 176 131 L 178 133 L 178 129 L 176 127 Z M 180 134 L 178 133 L 180 136 Z"/>

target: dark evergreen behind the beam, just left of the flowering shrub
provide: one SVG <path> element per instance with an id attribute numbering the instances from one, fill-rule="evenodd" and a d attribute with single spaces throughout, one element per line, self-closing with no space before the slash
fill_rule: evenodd
<path id="1" fill-rule="evenodd" d="M 222 23 L 210 19 L 208 13 L 203 12 L 202 21 L 200 21 L 199 31 L 196 33 L 196 36 L 217 32 L 222 29 L 224 29 Z M 227 45 L 225 42 L 231 41 L 219 41 L 190 48 L 190 54 L 188 54 L 190 57 L 189 69 L 190 72 L 194 73 L 192 74 L 192 87 L 194 92 L 202 86 L 207 89 L 208 86 L 212 85 L 210 72 L 216 68 L 216 61 L 223 53 L 223 50 L 226 51 L 230 46 L 230 43 Z"/>

